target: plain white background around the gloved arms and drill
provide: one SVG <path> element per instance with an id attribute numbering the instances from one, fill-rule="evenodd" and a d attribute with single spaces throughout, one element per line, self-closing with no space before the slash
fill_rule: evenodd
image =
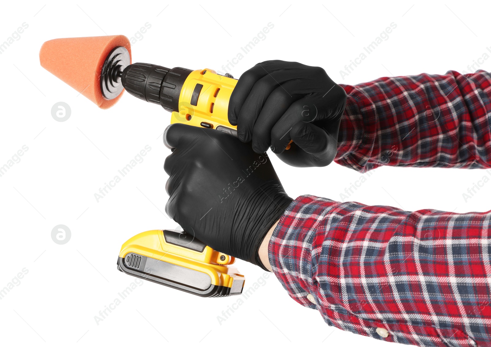
<path id="1" fill-rule="evenodd" d="M 148 22 L 151 28 L 132 47 L 133 62 L 222 70 L 271 22 L 266 39 L 232 69 L 236 78 L 257 62 L 282 59 L 322 66 L 333 80 L 355 84 L 392 75 L 469 72 L 467 65 L 491 46 L 489 2 L 370 2 L 4 2 L 0 42 L 22 23 L 28 28 L 0 54 L 0 166 L 23 145 L 28 151 L 0 177 L 0 288 L 23 268 L 28 273 L 0 300 L 0 344 L 384 345 L 327 326 L 317 311 L 293 301 L 274 275 L 222 325 L 217 316 L 237 296 L 204 299 L 150 282 L 97 325 L 94 316 L 135 281 L 116 270 L 121 244 L 145 230 L 176 226 L 164 213 L 163 164 L 170 152 L 162 132 L 170 115 L 129 94 L 101 110 L 41 68 L 38 58 L 42 43 L 53 38 L 133 37 Z M 343 80 L 339 71 L 392 22 L 397 28 L 389 39 Z M 482 68 L 489 70 L 490 60 Z M 72 110 L 65 122 L 51 115 L 59 101 Z M 96 202 L 94 193 L 145 145 L 152 150 L 144 161 Z M 271 159 L 294 198 L 339 199 L 360 177 L 334 163 L 298 169 Z M 462 195 L 483 175 L 382 167 L 351 198 L 411 211 L 487 211 L 491 184 L 467 202 Z M 72 232 L 63 245 L 51 238 L 58 224 Z M 237 267 L 246 287 L 264 274 L 240 260 Z"/>

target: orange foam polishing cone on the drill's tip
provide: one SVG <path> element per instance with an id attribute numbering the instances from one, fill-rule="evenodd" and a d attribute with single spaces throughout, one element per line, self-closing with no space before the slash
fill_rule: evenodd
<path id="1" fill-rule="evenodd" d="M 54 39 L 43 44 L 39 61 L 98 107 L 109 108 L 123 93 L 106 99 L 101 92 L 100 76 L 106 57 L 118 46 L 126 48 L 131 56 L 130 41 L 123 35 Z"/>

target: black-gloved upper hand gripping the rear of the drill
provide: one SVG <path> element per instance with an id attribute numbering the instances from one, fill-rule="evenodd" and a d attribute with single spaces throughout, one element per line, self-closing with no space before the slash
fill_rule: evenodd
<path id="1" fill-rule="evenodd" d="M 337 153 L 346 92 L 320 67 L 268 60 L 247 70 L 230 96 L 228 121 L 256 153 L 271 146 L 292 166 L 326 166 Z M 293 140 L 291 148 L 286 146 Z"/>

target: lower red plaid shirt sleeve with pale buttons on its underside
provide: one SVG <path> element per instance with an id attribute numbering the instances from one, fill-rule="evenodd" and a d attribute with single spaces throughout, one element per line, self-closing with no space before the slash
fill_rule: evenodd
<path id="1" fill-rule="evenodd" d="M 491 212 L 305 195 L 280 218 L 269 261 L 288 294 L 328 325 L 408 345 L 491 346 L 490 224 Z"/>

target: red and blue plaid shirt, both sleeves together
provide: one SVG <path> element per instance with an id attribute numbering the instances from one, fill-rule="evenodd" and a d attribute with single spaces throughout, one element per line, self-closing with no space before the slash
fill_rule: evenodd
<path id="1" fill-rule="evenodd" d="M 490 81 L 449 72 L 344 86 L 337 162 L 361 172 L 490 167 Z M 300 196 L 273 232 L 269 260 L 290 296 L 328 325 L 417 346 L 491 346 L 491 212 Z"/>

